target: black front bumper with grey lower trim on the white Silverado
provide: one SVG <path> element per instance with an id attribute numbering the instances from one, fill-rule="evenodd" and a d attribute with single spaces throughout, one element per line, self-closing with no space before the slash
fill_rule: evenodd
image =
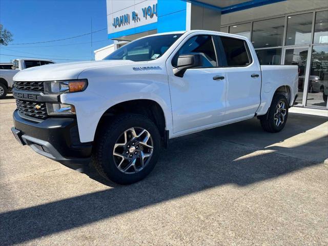
<path id="1" fill-rule="evenodd" d="M 92 142 L 80 142 L 76 118 L 35 121 L 15 110 L 13 120 L 15 135 L 38 154 L 78 171 L 83 171 L 90 162 Z"/>

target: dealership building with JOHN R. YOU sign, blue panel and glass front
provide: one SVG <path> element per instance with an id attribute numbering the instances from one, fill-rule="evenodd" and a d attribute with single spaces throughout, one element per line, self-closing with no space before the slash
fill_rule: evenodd
<path id="1" fill-rule="evenodd" d="M 326 0 L 107 0 L 107 22 L 114 49 L 172 31 L 248 37 L 261 65 L 298 65 L 297 106 L 328 109 Z"/>

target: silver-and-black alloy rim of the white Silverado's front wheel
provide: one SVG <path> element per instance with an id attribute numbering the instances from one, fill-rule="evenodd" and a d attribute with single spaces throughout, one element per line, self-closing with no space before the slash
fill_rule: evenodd
<path id="1" fill-rule="evenodd" d="M 113 158 L 117 169 L 125 174 L 140 172 L 149 163 L 153 148 L 152 136 L 146 129 L 129 128 L 114 145 Z"/>

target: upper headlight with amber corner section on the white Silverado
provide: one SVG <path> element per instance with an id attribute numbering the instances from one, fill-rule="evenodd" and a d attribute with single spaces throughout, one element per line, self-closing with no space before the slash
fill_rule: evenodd
<path id="1" fill-rule="evenodd" d="M 88 86 L 87 79 L 44 82 L 46 94 L 62 94 L 84 91 Z"/>

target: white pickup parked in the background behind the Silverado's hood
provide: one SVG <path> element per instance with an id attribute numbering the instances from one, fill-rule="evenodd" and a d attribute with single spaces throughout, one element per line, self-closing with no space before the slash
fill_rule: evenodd
<path id="1" fill-rule="evenodd" d="M 16 73 L 23 69 L 32 68 L 35 66 L 42 66 L 53 64 L 54 61 L 46 59 L 14 59 L 12 66 L 3 64 L 4 69 L 0 69 L 0 99 L 6 97 L 7 92 L 10 92 L 13 85 L 13 77 Z"/>

